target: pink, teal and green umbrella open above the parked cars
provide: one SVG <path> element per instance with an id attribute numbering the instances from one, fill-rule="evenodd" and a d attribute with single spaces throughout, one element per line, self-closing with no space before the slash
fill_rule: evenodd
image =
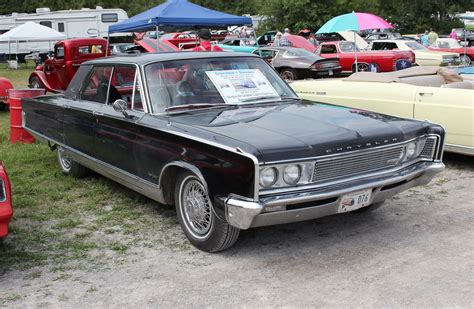
<path id="1" fill-rule="evenodd" d="M 370 13 L 352 12 L 332 18 L 331 20 L 326 22 L 316 33 L 390 28 L 393 28 L 393 26 L 377 15 Z"/>

